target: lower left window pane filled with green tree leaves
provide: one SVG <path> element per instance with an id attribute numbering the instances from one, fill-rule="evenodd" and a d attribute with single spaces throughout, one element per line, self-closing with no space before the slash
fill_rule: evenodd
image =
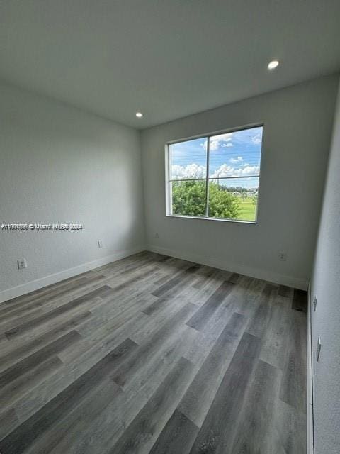
<path id="1" fill-rule="evenodd" d="M 170 182 L 172 214 L 205 216 L 205 180 Z"/>

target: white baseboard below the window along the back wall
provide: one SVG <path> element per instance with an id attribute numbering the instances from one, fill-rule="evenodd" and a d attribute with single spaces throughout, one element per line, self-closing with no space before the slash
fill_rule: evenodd
<path id="1" fill-rule="evenodd" d="M 278 273 L 270 272 L 267 270 L 260 270 L 258 268 L 247 267 L 245 265 L 228 263 L 224 260 L 215 260 L 214 258 L 203 257 L 203 255 L 180 252 L 178 250 L 161 248 L 155 245 L 147 245 L 147 250 L 150 250 L 154 253 L 181 258 L 182 260 L 188 260 L 190 262 L 201 263 L 202 265 L 208 265 L 210 267 L 220 268 L 221 270 L 237 272 L 240 275 L 256 277 L 257 279 L 275 282 L 276 284 L 280 285 L 287 285 L 288 287 L 294 287 L 295 289 L 307 290 L 307 280 L 305 279 L 297 279 L 296 277 L 279 275 Z"/>

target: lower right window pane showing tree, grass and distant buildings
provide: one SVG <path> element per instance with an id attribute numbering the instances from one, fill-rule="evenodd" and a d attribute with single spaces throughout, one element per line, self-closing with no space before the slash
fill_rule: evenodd
<path id="1" fill-rule="evenodd" d="M 209 180 L 209 217 L 256 221 L 259 177 Z"/>

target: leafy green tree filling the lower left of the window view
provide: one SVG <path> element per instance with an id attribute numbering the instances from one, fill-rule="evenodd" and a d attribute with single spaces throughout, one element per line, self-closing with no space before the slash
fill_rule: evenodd
<path id="1" fill-rule="evenodd" d="M 205 182 L 174 182 L 172 212 L 183 216 L 205 216 Z M 239 199 L 215 182 L 209 184 L 209 216 L 234 219 L 239 215 Z"/>

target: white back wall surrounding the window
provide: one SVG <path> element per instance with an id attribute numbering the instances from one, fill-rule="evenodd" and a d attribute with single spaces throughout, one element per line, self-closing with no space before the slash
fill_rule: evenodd
<path id="1" fill-rule="evenodd" d="M 148 248 L 306 288 L 337 81 L 323 77 L 142 131 Z M 262 122 L 257 225 L 165 216 L 167 141 Z"/>

